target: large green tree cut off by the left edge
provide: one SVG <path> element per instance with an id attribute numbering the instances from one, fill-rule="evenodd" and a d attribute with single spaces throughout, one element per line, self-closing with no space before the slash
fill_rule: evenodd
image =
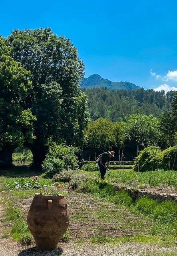
<path id="1" fill-rule="evenodd" d="M 17 146 L 34 139 L 36 120 L 25 104 L 32 90 L 30 72 L 10 53 L 6 40 L 0 37 L 0 164 L 4 166 L 12 165 L 12 152 Z"/>

